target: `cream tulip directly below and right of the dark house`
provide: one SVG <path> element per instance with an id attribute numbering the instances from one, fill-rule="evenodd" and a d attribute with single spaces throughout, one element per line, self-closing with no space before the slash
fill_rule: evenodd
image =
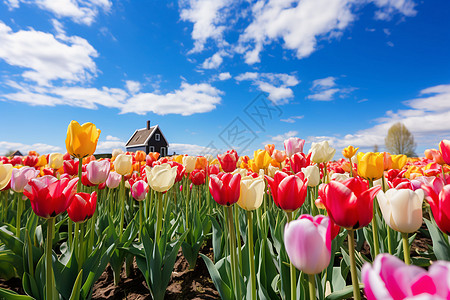
<path id="1" fill-rule="evenodd" d="M 145 173 L 152 190 L 163 193 L 174 185 L 177 168 L 172 168 L 169 164 L 156 165 L 153 168 L 146 166 Z"/>

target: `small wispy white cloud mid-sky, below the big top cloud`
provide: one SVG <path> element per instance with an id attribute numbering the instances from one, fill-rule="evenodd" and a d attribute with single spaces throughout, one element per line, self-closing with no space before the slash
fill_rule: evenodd
<path id="1" fill-rule="evenodd" d="M 290 87 L 300 83 L 295 75 L 282 73 L 256 73 L 246 72 L 235 77 L 237 81 L 248 80 L 259 90 L 269 94 L 269 100 L 274 104 L 286 104 L 294 97 Z"/>

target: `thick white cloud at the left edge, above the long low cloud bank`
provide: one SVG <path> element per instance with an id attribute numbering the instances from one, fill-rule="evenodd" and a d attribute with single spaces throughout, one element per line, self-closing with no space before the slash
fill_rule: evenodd
<path id="1" fill-rule="evenodd" d="M 0 59 L 27 69 L 22 76 L 40 85 L 57 79 L 72 83 L 91 79 L 97 72 L 93 61 L 97 56 L 97 51 L 81 37 L 61 32 L 55 37 L 32 28 L 13 32 L 0 21 Z"/>

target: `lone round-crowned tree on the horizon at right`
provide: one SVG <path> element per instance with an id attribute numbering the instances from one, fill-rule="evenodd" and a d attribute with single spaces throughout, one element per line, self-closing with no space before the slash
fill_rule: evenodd
<path id="1" fill-rule="evenodd" d="M 416 143 L 413 134 L 400 122 L 395 123 L 388 130 L 384 139 L 386 149 L 392 154 L 405 154 L 406 156 L 416 156 Z"/>

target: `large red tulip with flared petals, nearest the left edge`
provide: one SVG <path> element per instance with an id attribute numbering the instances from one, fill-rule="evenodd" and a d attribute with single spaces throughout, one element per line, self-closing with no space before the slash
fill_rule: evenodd
<path id="1" fill-rule="evenodd" d="M 30 199 L 34 213 L 42 218 L 56 217 L 72 202 L 78 178 L 58 180 L 53 176 L 31 179 L 23 194 Z"/>

